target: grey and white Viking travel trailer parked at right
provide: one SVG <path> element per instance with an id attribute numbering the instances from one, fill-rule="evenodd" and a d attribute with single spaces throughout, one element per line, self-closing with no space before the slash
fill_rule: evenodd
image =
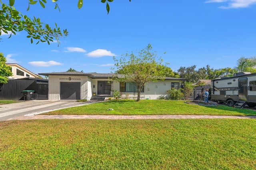
<path id="1" fill-rule="evenodd" d="M 256 73 L 238 72 L 232 77 L 212 80 L 211 100 L 226 102 L 234 106 L 236 102 L 246 102 L 249 107 L 256 106 Z"/>

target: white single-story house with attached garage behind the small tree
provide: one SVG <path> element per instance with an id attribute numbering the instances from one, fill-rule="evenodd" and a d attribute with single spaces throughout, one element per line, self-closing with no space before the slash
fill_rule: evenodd
<path id="1" fill-rule="evenodd" d="M 113 74 L 96 72 L 51 72 L 40 73 L 49 77 L 49 100 L 91 100 L 96 95 L 111 96 L 114 90 L 122 92 L 123 97 L 137 98 L 137 88 L 133 82 L 112 81 Z M 122 76 L 120 74 L 120 76 Z M 148 82 L 142 90 L 141 99 L 156 99 L 167 94 L 170 88 L 180 88 L 184 78 L 166 77 L 164 81 Z"/>

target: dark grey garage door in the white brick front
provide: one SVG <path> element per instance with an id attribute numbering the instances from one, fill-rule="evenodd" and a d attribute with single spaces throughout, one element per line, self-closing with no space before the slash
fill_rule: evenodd
<path id="1" fill-rule="evenodd" d="M 80 99 L 80 82 L 60 82 L 60 100 Z"/>

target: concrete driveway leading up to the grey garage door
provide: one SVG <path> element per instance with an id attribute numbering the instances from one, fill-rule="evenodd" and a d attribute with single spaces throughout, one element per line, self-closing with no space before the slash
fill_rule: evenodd
<path id="1" fill-rule="evenodd" d="M 37 115 L 68 107 L 82 106 L 98 101 L 76 102 L 76 100 L 27 100 L 0 105 L 0 121 L 22 115 Z"/>

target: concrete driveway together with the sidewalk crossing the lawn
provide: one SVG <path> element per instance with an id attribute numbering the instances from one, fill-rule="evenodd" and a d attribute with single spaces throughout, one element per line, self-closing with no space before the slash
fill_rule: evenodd
<path id="1" fill-rule="evenodd" d="M 98 101 L 31 100 L 0 105 L 0 121 L 27 119 L 256 119 L 256 116 L 219 115 L 39 115 L 53 110 L 82 106 Z"/>

